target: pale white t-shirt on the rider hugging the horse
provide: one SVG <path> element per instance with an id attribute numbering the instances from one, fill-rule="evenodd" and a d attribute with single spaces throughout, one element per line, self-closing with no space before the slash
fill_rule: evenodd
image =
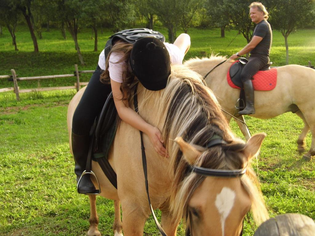
<path id="1" fill-rule="evenodd" d="M 164 43 L 166 49 L 169 52 L 170 61 L 172 64 L 182 64 L 184 59 L 184 52 L 180 51 L 180 49 L 175 46 L 174 44 L 165 42 Z M 123 53 L 112 53 L 109 62 L 108 62 L 108 71 L 109 76 L 113 81 L 122 83 L 123 82 L 123 72 L 127 70 L 131 71 L 131 67 L 128 64 L 124 63 L 123 61 L 120 61 L 120 59 L 123 57 Z M 100 53 L 99 56 L 99 62 L 98 65 L 102 70 L 105 70 L 105 55 L 104 50 Z M 118 62 L 118 63 L 117 63 Z"/>

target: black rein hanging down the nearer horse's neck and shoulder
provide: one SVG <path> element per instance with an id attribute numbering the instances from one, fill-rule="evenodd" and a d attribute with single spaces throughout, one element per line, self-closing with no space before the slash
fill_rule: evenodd
<path id="1" fill-rule="evenodd" d="M 138 97 L 137 97 L 137 86 L 135 87 L 135 92 L 134 92 L 134 106 L 135 106 L 135 111 L 139 114 Z M 142 131 L 140 131 L 140 139 L 141 139 L 142 166 L 143 166 L 143 173 L 144 173 L 144 179 L 145 179 L 145 184 L 146 184 L 146 194 L 148 196 L 150 210 L 152 212 L 152 215 L 153 215 L 153 218 L 154 218 L 154 222 L 157 225 L 157 228 L 159 229 L 161 235 L 162 236 L 167 236 L 167 234 L 164 232 L 162 226 L 157 221 L 157 217 L 154 214 L 154 211 L 153 211 L 153 208 L 152 208 L 152 205 L 151 205 L 151 201 L 150 201 L 149 184 L 148 184 L 148 171 L 147 171 L 147 164 L 146 164 L 146 151 L 145 151 L 144 144 L 143 144 Z"/>

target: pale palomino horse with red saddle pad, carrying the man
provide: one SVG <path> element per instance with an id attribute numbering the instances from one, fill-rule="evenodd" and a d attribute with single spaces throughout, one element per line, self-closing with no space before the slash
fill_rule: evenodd
<path id="1" fill-rule="evenodd" d="M 224 61 L 226 57 L 211 56 L 203 59 L 190 59 L 185 65 L 205 76 L 212 68 Z M 205 79 L 207 86 L 212 90 L 218 99 L 222 109 L 235 115 L 244 121 L 242 115 L 238 115 L 235 108 L 239 98 L 239 89 L 232 88 L 226 80 L 226 73 L 233 60 L 227 60 L 219 65 Z M 250 115 L 256 118 L 268 119 L 285 112 L 294 112 L 304 121 L 304 128 L 297 140 L 298 151 L 305 151 L 305 137 L 311 129 L 312 144 L 310 150 L 303 156 L 305 160 L 311 160 L 315 155 L 315 70 L 301 65 L 285 65 L 277 68 L 277 85 L 271 91 L 255 91 L 255 114 Z M 226 114 L 228 121 L 232 116 Z M 235 120 L 243 135 L 248 140 L 250 135 L 246 126 Z"/>

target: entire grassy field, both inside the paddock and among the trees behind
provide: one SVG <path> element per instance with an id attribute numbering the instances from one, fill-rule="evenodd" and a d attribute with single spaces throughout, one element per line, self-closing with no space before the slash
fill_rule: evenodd
<path id="1" fill-rule="evenodd" d="M 164 29 L 159 30 L 166 34 Z M 99 52 L 110 34 L 100 34 Z M 186 59 L 211 52 L 230 55 L 246 43 L 238 36 L 227 47 L 235 31 L 227 31 L 224 39 L 219 30 L 191 29 L 189 34 L 192 48 Z M 14 52 L 7 31 L 0 37 L 0 75 L 9 74 L 13 68 L 20 76 L 70 73 L 73 65 L 79 64 L 70 35 L 63 40 L 59 31 L 43 32 L 43 40 L 38 40 L 38 54 L 32 52 L 29 32 L 24 27 L 19 27 L 16 35 L 18 52 Z M 315 64 L 314 35 L 315 30 L 308 29 L 289 36 L 290 63 L 306 65 L 311 60 Z M 95 67 L 99 52 L 92 52 L 93 42 L 91 32 L 82 30 L 79 45 L 87 65 L 79 66 L 79 70 Z M 271 60 L 275 65 L 285 61 L 284 39 L 278 32 L 274 32 Z M 40 85 L 73 82 L 47 80 Z M 21 81 L 19 86 L 37 87 L 37 81 Z M 12 87 L 12 82 L 1 80 L 1 87 Z M 23 93 L 17 102 L 14 93 L 0 93 L 0 235 L 86 234 L 89 202 L 86 196 L 76 193 L 66 130 L 67 105 L 74 94 L 75 90 Z M 252 134 L 267 133 L 258 169 L 255 161 L 253 167 L 259 174 L 270 216 L 295 212 L 315 219 L 315 161 L 305 162 L 296 150 L 302 121 L 291 113 L 269 120 L 246 119 Z M 231 126 L 243 137 L 234 122 Z M 306 142 L 309 147 L 310 134 Z M 99 197 L 97 208 L 100 232 L 112 235 L 112 201 Z M 255 225 L 248 217 L 244 235 L 253 235 L 254 231 Z M 158 235 L 152 218 L 146 223 L 145 235 Z M 182 226 L 178 235 L 184 235 Z"/>

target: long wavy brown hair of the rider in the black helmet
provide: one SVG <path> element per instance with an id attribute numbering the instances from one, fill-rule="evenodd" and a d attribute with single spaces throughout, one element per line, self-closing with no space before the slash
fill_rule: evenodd
<path id="1" fill-rule="evenodd" d="M 105 61 L 105 70 L 100 76 L 100 81 L 105 84 L 110 84 L 111 83 L 111 78 L 109 76 L 109 71 L 108 71 L 108 65 L 109 65 L 109 58 L 110 55 L 114 52 L 116 53 L 122 53 L 123 57 L 117 62 L 124 62 L 125 63 L 125 68 L 124 68 L 124 73 L 122 75 L 123 82 L 120 86 L 120 91 L 123 94 L 122 100 L 126 100 L 130 97 L 131 93 L 131 87 L 138 81 L 138 79 L 135 77 L 135 74 L 132 71 L 129 71 L 129 58 L 130 58 L 130 53 L 131 49 L 133 47 L 133 44 L 124 42 L 122 40 L 119 40 L 115 42 L 114 46 L 112 47 L 111 51 L 108 53 Z M 124 97 L 123 91 L 127 91 L 127 98 Z"/>

